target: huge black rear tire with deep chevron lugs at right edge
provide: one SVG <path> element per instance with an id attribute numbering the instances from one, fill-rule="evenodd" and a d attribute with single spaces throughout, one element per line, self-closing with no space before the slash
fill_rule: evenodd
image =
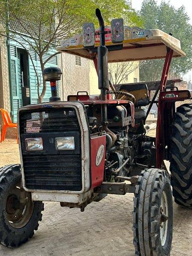
<path id="1" fill-rule="evenodd" d="M 192 208 L 192 104 L 177 108 L 171 135 L 170 172 L 175 202 Z"/>

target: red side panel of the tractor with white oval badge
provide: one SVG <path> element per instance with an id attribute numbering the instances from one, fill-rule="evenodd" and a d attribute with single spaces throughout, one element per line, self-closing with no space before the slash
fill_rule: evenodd
<path id="1" fill-rule="evenodd" d="M 91 138 L 91 189 L 101 185 L 105 168 L 106 136 Z"/>

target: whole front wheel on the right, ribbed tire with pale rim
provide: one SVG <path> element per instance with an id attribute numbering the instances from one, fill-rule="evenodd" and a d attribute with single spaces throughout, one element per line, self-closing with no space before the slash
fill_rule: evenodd
<path id="1" fill-rule="evenodd" d="M 172 223 L 172 190 L 168 174 L 160 169 L 143 171 L 134 198 L 135 255 L 169 256 Z"/>

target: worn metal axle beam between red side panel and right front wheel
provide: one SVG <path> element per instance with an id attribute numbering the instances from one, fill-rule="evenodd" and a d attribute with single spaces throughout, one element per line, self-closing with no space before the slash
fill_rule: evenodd
<path id="1" fill-rule="evenodd" d="M 94 189 L 94 193 L 106 193 L 114 195 L 125 195 L 126 193 L 134 192 L 135 185 L 118 182 L 103 182 L 100 186 Z"/>

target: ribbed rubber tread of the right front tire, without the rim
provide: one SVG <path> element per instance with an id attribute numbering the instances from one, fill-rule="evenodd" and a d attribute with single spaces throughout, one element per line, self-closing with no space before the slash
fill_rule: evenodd
<path id="1" fill-rule="evenodd" d="M 160 191 L 165 180 L 170 184 L 168 174 L 164 170 L 151 168 L 141 172 L 134 194 L 132 230 L 135 256 L 163 256 L 163 254 L 157 254 L 160 252 L 157 202 L 161 200 Z M 172 196 L 171 189 L 170 196 Z"/>

